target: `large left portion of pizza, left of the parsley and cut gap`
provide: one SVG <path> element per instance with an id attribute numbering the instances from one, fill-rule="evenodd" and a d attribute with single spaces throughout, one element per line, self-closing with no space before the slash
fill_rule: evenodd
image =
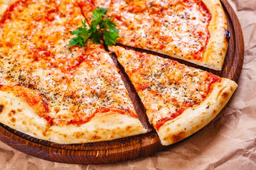
<path id="1" fill-rule="evenodd" d="M 146 132 L 104 47 L 90 41 L 85 47 L 67 46 L 83 19 L 75 0 L 20 0 L 5 11 L 0 22 L 1 123 L 58 143 Z"/>

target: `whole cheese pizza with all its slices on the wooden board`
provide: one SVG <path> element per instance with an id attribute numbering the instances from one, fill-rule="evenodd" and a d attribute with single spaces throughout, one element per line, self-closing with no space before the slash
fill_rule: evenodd
<path id="1" fill-rule="evenodd" d="M 117 42 L 134 50 L 68 45 L 97 7 L 109 8 Z M 178 142 L 213 120 L 237 84 L 135 50 L 220 70 L 226 25 L 217 0 L 0 0 L 0 123 L 59 144 L 141 135 L 150 125 L 127 90 L 134 86 L 161 144 Z"/>

